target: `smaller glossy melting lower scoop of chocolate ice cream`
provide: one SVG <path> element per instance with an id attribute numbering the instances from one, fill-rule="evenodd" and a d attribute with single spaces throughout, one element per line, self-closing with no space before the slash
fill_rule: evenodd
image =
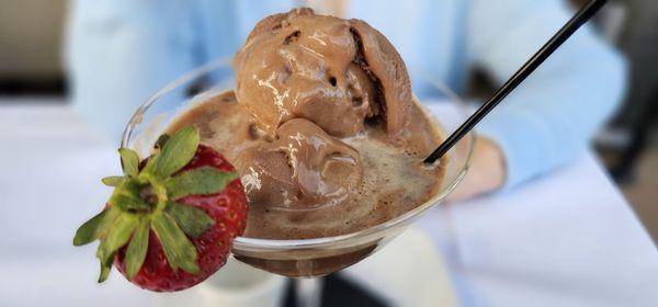
<path id="1" fill-rule="evenodd" d="M 287 121 L 276 137 L 237 158 L 252 204 L 311 208 L 344 200 L 361 181 L 359 154 L 314 123 Z"/>

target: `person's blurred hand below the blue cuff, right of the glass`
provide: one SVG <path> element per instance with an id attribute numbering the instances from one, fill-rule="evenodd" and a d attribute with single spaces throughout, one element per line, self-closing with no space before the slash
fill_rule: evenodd
<path id="1" fill-rule="evenodd" d="M 490 139 L 475 138 L 470 169 L 457 187 L 447 195 L 447 202 L 457 202 L 496 191 L 504 183 L 504 157 Z"/>

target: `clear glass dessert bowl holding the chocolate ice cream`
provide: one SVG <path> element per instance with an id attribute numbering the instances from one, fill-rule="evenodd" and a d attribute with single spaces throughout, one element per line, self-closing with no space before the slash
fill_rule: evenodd
<path id="1" fill-rule="evenodd" d="M 208 98 L 232 90 L 234 71 L 228 59 L 209 62 L 190 71 L 149 98 L 135 112 L 122 139 L 122 147 L 136 150 L 141 158 L 148 157 L 159 135 L 164 133 L 179 115 L 205 102 Z M 429 93 L 434 101 L 451 104 L 460 118 L 450 118 L 441 125 L 446 136 L 467 115 L 458 98 L 441 82 L 420 71 L 412 75 L 412 84 Z M 415 98 L 420 101 L 418 98 Z M 426 111 L 427 112 L 427 111 Z M 430 117 L 433 117 L 430 115 Z M 232 243 L 236 259 L 272 273 L 291 277 L 322 276 L 350 266 L 384 247 L 427 209 L 439 205 L 461 182 L 469 166 L 473 135 L 464 137 L 442 160 L 444 178 L 439 191 L 427 202 L 392 219 L 365 229 L 332 237 L 313 239 L 260 239 L 238 237 Z M 429 154 L 429 152 L 428 152 Z M 394 204 L 395 205 L 395 204 Z"/>

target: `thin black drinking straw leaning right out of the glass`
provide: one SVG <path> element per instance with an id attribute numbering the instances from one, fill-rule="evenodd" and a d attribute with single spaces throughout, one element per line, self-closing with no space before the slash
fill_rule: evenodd
<path id="1" fill-rule="evenodd" d="M 512 92 L 530 73 L 548 58 L 576 30 L 589 21 L 605 4 L 606 0 L 592 0 L 582 7 L 555 35 L 532 56 L 494 95 L 484 103 L 460 128 L 446 138 L 428 158 L 426 163 L 433 163 L 464 137 L 479 121 L 496 107 L 510 92 Z"/>

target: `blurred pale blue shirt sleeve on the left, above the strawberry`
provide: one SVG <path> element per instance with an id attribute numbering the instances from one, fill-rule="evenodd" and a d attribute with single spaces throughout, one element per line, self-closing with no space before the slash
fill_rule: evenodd
<path id="1" fill-rule="evenodd" d="M 195 65 L 188 1 L 75 0 L 66 66 L 75 109 L 118 141 L 135 110 Z"/>

